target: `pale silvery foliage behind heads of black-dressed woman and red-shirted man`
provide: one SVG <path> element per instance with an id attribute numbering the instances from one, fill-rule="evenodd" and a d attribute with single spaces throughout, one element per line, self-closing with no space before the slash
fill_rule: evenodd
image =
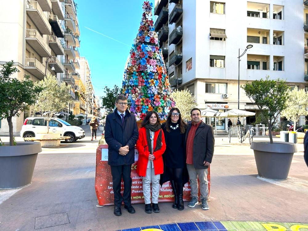
<path id="1" fill-rule="evenodd" d="M 176 102 L 175 106 L 179 108 L 183 120 L 191 120 L 190 111 L 197 107 L 197 103 L 189 90 L 175 90 L 171 93 L 170 97 Z"/>

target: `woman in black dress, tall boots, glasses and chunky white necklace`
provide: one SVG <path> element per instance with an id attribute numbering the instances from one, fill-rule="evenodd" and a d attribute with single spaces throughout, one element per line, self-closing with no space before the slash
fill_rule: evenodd
<path id="1" fill-rule="evenodd" d="M 166 151 L 164 152 L 164 174 L 161 176 L 160 183 L 170 180 L 174 193 L 174 203 L 172 208 L 183 210 L 183 186 L 187 180 L 183 181 L 183 170 L 186 168 L 186 152 L 185 152 L 185 130 L 186 124 L 181 117 L 178 108 L 172 108 L 167 117 L 166 123 L 162 124 L 164 131 Z M 188 176 L 185 174 L 184 176 Z"/>

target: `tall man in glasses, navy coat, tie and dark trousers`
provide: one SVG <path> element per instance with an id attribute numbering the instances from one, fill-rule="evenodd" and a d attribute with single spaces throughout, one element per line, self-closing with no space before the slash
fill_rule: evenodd
<path id="1" fill-rule="evenodd" d="M 127 99 L 119 95 L 115 100 L 116 109 L 107 115 L 105 140 L 108 144 L 108 164 L 111 168 L 114 193 L 114 214 L 122 215 L 121 205 L 128 213 L 135 213 L 131 204 L 132 178 L 131 169 L 135 162 L 135 144 L 138 140 L 136 118 L 127 110 Z M 124 193 L 121 195 L 121 180 L 124 182 Z"/>

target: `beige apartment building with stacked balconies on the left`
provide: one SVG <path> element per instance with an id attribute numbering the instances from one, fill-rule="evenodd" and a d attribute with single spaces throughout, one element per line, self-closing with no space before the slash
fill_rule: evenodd
<path id="1" fill-rule="evenodd" d="M 55 75 L 58 85 L 70 86 L 73 103 L 63 111 L 81 111 L 85 100 L 85 84 L 80 81 L 80 30 L 73 0 L 2 1 L 0 14 L 0 63 L 14 60 L 20 70 L 15 78 L 30 75 L 40 81 L 45 75 Z M 76 94 L 75 94 L 76 92 Z M 78 93 L 77 93 L 78 92 Z M 14 132 L 21 130 L 25 117 L 34 116 L 30 106 L 23 116 L 13 119 Z M 7 132 L 3 120 L 0 132 Z"/>

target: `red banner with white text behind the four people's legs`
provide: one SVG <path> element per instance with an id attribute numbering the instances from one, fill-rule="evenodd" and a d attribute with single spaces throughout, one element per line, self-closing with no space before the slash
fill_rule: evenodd
<path id="1" fill-rule="evenodd" d="M 138 160 L 138 151 L 135 149 L 135 163 L 132 164 L 132 204 L 144 203 L 142 191 L 142 176 L 136 173 Z M 210 190 L 210 170 L 208 171 L 208 183 Z M 121 193 L 123 194 L 123 181 Z M 110 166 L 108 165 L 108 145 L 101 144 L 96 149 L 96 172 L 95 172 L 95 192 L 99 205 L 113 205 L 113 189 L 112 189 L 112 176 Z M 189 183 L 185 184 L 183 190 L 184 201 L 190 200 L 190 186 Z M 172 202 L 174 195 L 170 182 L 166 182 L 160 188 L 159 202 Z"/>

